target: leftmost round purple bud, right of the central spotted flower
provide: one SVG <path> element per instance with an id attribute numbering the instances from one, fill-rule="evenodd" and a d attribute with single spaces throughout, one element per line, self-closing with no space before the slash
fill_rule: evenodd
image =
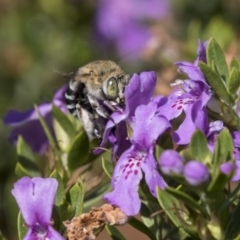
<path id="1" fill-rule="evenodd" d="M 164 174 L 181 174 L 184 168 L 182 156 L 176 151 L 166 150 L 159 159 L 159 165 Z"/>

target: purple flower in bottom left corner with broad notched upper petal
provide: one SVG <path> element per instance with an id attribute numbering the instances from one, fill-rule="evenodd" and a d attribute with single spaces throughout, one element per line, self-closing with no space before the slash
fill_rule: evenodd
<path id="1" fill-rule="evenodd" d="M 50 224 L 57 187 L 57 180 L 39 177 L 23 177 L 14 184 L 12 194 L 29 228 L 24 240 L 63 239 Z"/>

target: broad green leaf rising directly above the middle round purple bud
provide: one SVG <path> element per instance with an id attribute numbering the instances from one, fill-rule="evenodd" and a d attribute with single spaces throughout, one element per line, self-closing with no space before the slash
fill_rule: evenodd
<path id="1" fill-rule="evenodd" d="M 191 138 L 190 151 L 195 160 L 199 160 L 204 164 L 211 162 L 212 154 L 208 149 L 207 139 L 200 130 L 197 130 Z"/>

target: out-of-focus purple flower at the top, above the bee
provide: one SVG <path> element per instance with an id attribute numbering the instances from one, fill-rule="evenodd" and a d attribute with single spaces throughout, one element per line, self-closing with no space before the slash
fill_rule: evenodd
<path id="1" fill-rule="evenodd" d="M 167 0 L 100 0 L 96 25 L 101 36 L 113 41 L 121 56 L 137 56 L 151 37 L 144 20 L 158 20 L 168 15 Z"/>

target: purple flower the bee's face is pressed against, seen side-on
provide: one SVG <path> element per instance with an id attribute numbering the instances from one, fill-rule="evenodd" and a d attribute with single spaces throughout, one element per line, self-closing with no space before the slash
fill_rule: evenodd
<path id="1" fill-rule="evenodd" d="M 113 154 L 120 156 L 131 146 L 130 142 L 126 140 L 126 124 L 131 125 L 135 109 L 139 105 L 149 103 L 156 82 L 157 76 L 155 72 L 142 72 L 139 75 L 134 74 L 132 76 L 124 94 L 126 107 L 111 115 L 111 120 L 108 121 L 105 127 L 100 147 L 105 146 L 109 140 L 113 146 Z M 100 149 L 96 149 L 94 153 L 100 153 L 100 151 Z"/>

